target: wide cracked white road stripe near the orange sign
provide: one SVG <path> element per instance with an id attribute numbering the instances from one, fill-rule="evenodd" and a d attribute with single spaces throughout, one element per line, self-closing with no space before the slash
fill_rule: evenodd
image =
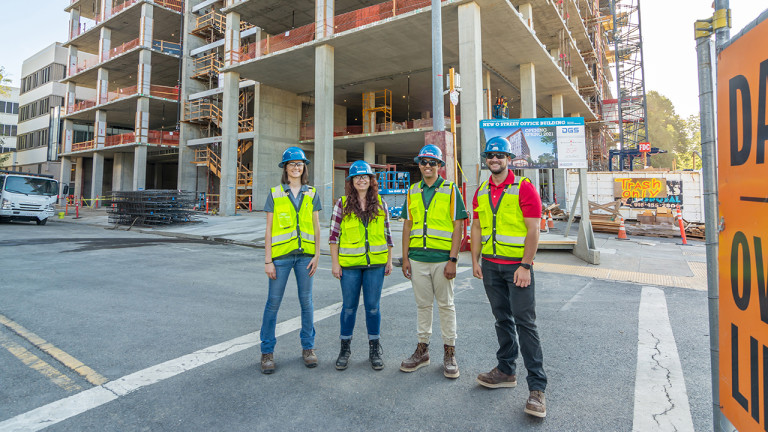
<path id="1" fill-rule="evenodd" d="M 693 431 L 683 368 L 664 291 L 643 287 L 637 332 L 633 431 Z"/>

